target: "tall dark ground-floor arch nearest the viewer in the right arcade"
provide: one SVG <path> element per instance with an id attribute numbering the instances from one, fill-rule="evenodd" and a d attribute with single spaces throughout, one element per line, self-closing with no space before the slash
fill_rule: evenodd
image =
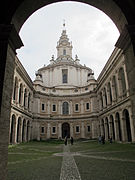
<path id="1" fill-rule="evenodd" d="M 126 134 L 127 134 L 127 140 L 128 142 L 132 141 L 132 136 L 131 136 L 131 125 L 130 125 L 130 118 L 129 118 L 129 112 L 127 109 L 123 110 L 123 117 L 126 125 Z"/>

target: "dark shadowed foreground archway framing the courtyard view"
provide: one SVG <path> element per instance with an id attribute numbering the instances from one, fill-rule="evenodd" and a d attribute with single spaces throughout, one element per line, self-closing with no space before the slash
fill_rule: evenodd
<path id="1" fill-rule="evenodd" d="M 7 66 L 9 65 L 9 61 L 7 59 L 7 52 L 8 52 L 8 44 L 9 44 L 9 37 L 13 40 L 13 34 L 15 33 L 14 30 L 14 26 L 15 29 L 17 30 L 17 32 L 19 32 L 21 26 L 23 25 L 23 23 L 27 20 L 27 18 L 33 13 L 35 12 L 37 9 L 51 4 L 53 3 L 53 0 L 14 0 L 14 1 L 9 1 L 9 0 L 5 0 L 4 2 L 1 2 L 1 6 L 0 6 L 0 36 L 3 37 L 4 35 L 4 39 L 2 39 L 2 43 L 0 44 L 0 57 L 1 57 L 1 61 L 0 61 L 0 131 L 1 134 L 3 135 L 3 137 L 6 137 L 5 141 L 0 141 L 0 144 L 2 144 L 2 152 L 6 152 L 7 155 L 7 142 L 8 142 L 8 130 L 9 130 L 9 122 L 4 122 L 5 119 L 9 118 L 9 114 L 10 112 L 7 111 L 6 115 L 4 116 L 4 101 L 6 101 L 6 98 L 4 97 L 8 97 L 7 99 L 11 98 L 11 88 L 8 89 L 7 87 L 12 86 L 13 82 L 12 82 L 12 77 L 13 77 L 13 67 L 11 67 L 10 72 L 11 72 L 11 76 L 10 76 L 10 81 L 9 84 L 6 84 L 5 81 L 8 83 L 8 81 L 6 80 L 6 78 L 9 78 L 6 70 L 7 70 Z M 58 0 L 55 0 L 55 2 L 60 2 Z M 118 27 L 120 33 L 123 35 L 125 35 L 125 32 L 127 32 L 126 37 L 129 36 L 130 40 L 131 40 L 131 47 L 129 48 L 130 50 L 130 57 L 129 61 L 131 66 L 134 64 L 135 61 L 135 57 L 134 57 L 134 53 L 135 53 L 135 41 L 134 41 L 134 36 L 132 36 L 135 32 L 134 30 L 134 25 L 135 25 L 135 1 L 134 0 L 126 0 L 126 1 L 120 1 L 120 0 L 107 0 L 107 1 L 99 1 L 99 0 L 80 0 L 79 2 L 84 2 L 87 4 L 90 4 L 94 7 L 97 7 L 98 9 L 104 11 L 115 23 L 115 25 Z M 10 7 L 10 9 L 9 9 Z M 115 9 L 115 11 L 114 11 Z M 121 17 L 119 19 L 119 17 Z M 12 23 L 12 25 L 11 25 Z M 13 26 L 14 24 L 14 26 Z M 126 26 L 126 28 L 124 28 Z M 12 31 L 12 33 L 11 33 Z M 5 33 L 6 32 L 6 33 Z M 14 33 L 13 33 L 14 32 Z M 12 34 L 12 35 L 11 35 Z M 15 33 L 16 34 L 16 33 Z M 17 39 L 19 39 L 19 36 L 17 36 L 18 34 L 16 34 L 14 37 L 16 37 Z M 130 41 L 129 40 L 129 41 Z M 13 40 L 13 44 L 12 44 L 12 48 L 13 51 L 15 52 L 15 50 L 17 48 L 20 48 L 22 46 L 21 43 L 16 43 L 15 40 Z M 120 42 L 117 43 L 117 47 L 119 48 L 124 48 L 122 44 L 120 44 Z M 129 51 L 128 50 L 128 51 Z M 127 53 L 128 55 L 128 53 Z M 128 64 L 128 62 L 126 62 Z M 132 66 L 134 67 L 134 66 Z M 130 73 L 128 73 L 130 72 Z M 128 73 L 128 79 L 130 82 L 132 82 L 132 77 L 135 76 L 135 68 L 131 67 L 127 67 L 127 73 Z M 7 86 L 8 85 L 8 86 Z M 135 92 L 134 92 L 134 87 L 135 87 L 135 82 L 132 82 L 129 84 L 129 89 L 130 92 L 133 93 L 133 96 L 131 98 L 132 101 L 134 101 L 135 98 Z M 8 92 L 8 93 L 7 93 Z M 10 101 L 7 102 L 7 106 L 6 109 L 10 108 Z M 135 111 L 135 107 L 132 107 L 132 110 Z M 4 117 L 4 118 L 3 118 Z M 3 129 L 5 129 L 5 131 L 3 131 Z M 4 139 L 4 138 L 2 138 Z M 0 160 L 1 160 L 1 156 L 0 156 Z M 1 161 L 1 166 L 2 166 L 2 172 L 3 174 L 1 174 L 1 178 L 5 179 L 6 177 L 6 166 L 7 166 L 7 156 L 5 156 L 4 161 Z"/>

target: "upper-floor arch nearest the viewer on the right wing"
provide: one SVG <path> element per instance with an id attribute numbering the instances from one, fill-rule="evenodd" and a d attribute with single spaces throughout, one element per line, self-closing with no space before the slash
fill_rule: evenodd
<path id="1" fill-rule="evenodd" d="M 118 80 L 119 80 L 120 95 L 126 95 L 126 82 L 125 82 L 125 75 L 124 75 L 123 67 L 119 69 Z"/>

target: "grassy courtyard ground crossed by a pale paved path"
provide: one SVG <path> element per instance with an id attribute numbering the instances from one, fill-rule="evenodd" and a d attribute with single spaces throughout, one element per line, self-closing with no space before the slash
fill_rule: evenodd
<path id="1" fill-rule="evenodd" d="M 134 180 L 135 144 L 78 140 L 9 145 L 8 180 Z"/>

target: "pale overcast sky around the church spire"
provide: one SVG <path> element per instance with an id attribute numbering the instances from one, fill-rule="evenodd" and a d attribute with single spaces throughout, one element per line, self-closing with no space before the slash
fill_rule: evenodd
<path id="1" fill-rule="evenodd" d="M 32 14 L 20 30 L 24 46 L 17 56 L 32 80 L 35 72 L 57 58 L 57 41 L 65 20 L 73 59 L 94 71 L 97 79 L 115 48 L 119 31 L 112 20 L 99 9 L 79 2 L 59 2 L 45 6 Z"/>

